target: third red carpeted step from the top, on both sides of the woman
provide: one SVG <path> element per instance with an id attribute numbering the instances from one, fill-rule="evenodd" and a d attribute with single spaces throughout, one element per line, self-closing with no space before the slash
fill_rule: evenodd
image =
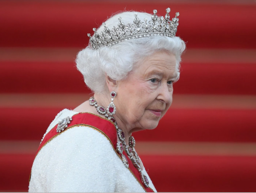
<path id="1" fill-rule="evenodd" d="M 0 140 L 40 140 L 61 109 L 1 108 Z M 170 109 L 140 141 L 256 142 L 256 110 Z"/>

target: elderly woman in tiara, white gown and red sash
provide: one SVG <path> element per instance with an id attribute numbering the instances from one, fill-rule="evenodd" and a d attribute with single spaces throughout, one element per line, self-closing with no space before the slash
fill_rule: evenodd
<path id="1" fill-rule="evenodd" d="M 156 192 L 132 133 L 156 128 L 172 104 L 185 43 L 169 12 L 122 12 L 88 34 L 76 64 L 94 96 L 50 124 L 29 192 Z"/>

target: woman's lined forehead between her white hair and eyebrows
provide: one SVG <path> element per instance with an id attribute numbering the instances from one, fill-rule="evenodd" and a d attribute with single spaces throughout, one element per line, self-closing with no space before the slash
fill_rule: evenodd
<path id="1" fill-rule="evenodd" d="M 168 77 L 176 76 L 176 57 L 174 54 L 165 51 L 155 52 L 139 64 L 138 73 L 144 76 L 151 74 L 161 74 Z"/>

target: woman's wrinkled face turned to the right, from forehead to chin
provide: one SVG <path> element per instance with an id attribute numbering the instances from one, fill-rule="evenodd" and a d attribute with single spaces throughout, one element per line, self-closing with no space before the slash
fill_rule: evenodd
<path id="1" fill-rule="evenodd" d="M 146 57 L 125 80 L 118 81 L 116 115 L 135 130 L 156 128 L 172 104 L 176 78 L 173 54 L 161 51 Z"/>

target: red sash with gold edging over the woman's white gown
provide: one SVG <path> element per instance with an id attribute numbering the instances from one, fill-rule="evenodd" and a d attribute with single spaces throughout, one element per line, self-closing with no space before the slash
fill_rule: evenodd
<path id="1" fill-rule="evenodd" d="M 58 124 L 57 124 L 58 125 Z M 102 118 L 100 116 L 97 116 L 95 114 L 91 113 L 78 113 L 72 116 L 72 121 L 70 124 L 68 124 L 67 129 L 65 129 L 63 132 L 57 133 L 57 125 L 55 125 L 44 137 L 44 140 L 39 145 L 39 148 L 37 150 L 38 152 L 41 150 L 42 147 L 44 147 L 45 144 L 47 144 L 49 141 L 57 137 L 58 135 L 61 135 L 61 133 L 65 132 L 66 130 L 76 127 L 76 126 L 89 126 L 92 129 L 97 130 L 102 135 L 104 135 L 111 143 L 113 150 L 116 152 L 116 154 L 121 158 L 121 156 L 116 151 L 116 143 L 117 143 L 117 134 L 116 134 L 116 128 L 112 121 L 109 121 L 108 119 Z M 100 129 L 99 129 L 100 128 Z M 36 155 L 37 155 L 36 154 Z M 128 158 L 128 155 L 124 151 L 123 154 Z M 146 192 L 154 192 L 151 188 L 146 188 L 143 185 L 143 182 L 140 178 L 139 171 L 133 166 L 133 163 L 130 159 L 128 159 L 129 162 L 129 171 L 132 173 L 132 175 L 137 179 L 137 181 L 140 183 L 142 188 Z M 125 167 L 125 166 L 124 166 Z M 31 174 L 30 174 L 31 175 Z M 30 180 L 30 179 L 29 179 Z"/>

